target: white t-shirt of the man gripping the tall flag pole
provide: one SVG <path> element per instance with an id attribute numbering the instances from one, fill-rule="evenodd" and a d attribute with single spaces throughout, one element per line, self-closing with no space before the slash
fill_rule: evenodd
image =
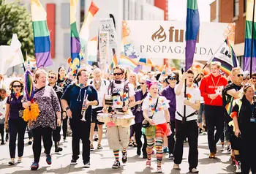
<path id="1" fill-rule="evenodd" d="M 175 91 L 178 85 L 175 86 Z M 200 100 L 200 90 L 197 88 L 196 85 L 193 85 L 192 87 L 187 87 L 187 99 L 189 99 L 189 102 L 195 103 L 195 101 Z M 177 120 L 182 121 L 182 117 L 184 115 L 184 87 L 182 88 L 181 94 L 179 96 L 176 95 L 176 116 L 175 118 Z M 195 113 L 196 110 L 194 110 L 191 106 L 186 105 L 186 116 L 189 116 L 192 113 Z M 178 113 L 181 114 L 181 116 L 178 116 Z M 187 121 L 197 120 L 197 115 L 191 116 L 187 118 Z"/>

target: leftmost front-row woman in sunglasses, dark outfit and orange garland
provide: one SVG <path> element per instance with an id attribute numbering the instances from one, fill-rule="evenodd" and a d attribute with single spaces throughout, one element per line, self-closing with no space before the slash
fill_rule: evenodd
<path id="1" fill-rule="evenodd" d="M 16 139 L 18 135 L 18 163 L 22 161 L 24 151 L 24 135 L 26 132 L 26 121 L 23 120 L 23 83 L 14 80 L 10 83 L 10 97 L 7 99 L 4 127 L 9 127 L 10 142 L 9 151 L 10 165 L 15 164 Z"/>

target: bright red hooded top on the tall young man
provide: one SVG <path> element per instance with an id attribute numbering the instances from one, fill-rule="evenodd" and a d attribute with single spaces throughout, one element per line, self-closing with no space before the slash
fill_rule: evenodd
<path id="1" fill-rule="evenodd" d="M 218 75 L 214 77 L 214 75 L 206 75 L 203 77 L 200 83 L 200 92 L 201 96 L 205 101 L 205 105 L 212 105 L 212 106 L 222 106 L 222 97 L 221 95 L 217 96 L 216 99 L 210 99 L 208 94 L 216 94 L 215 90 L 219 86 L 223 86 L 223 88 L 227 85 L 227 79 L 222 77 L 222 75 Z"/>

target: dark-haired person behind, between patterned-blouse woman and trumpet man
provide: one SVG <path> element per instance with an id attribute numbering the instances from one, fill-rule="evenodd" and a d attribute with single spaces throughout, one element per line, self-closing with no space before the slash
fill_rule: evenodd
<path id="1" fill-rule="evenodd" d="M 64 67 L 59 67 L 58 69 L 58 80 L 57 80 L 57 86 L 60 86 L 63 90 L 63 92 L 66 90 L 67 86 L 72 83 L 72 80 L 70 80 L 67 77 L 66 70 Z M 63 140 L 64 142 L 67 140 L 67 113 L 62 113 L 62 132 L 63 132 Z"/>

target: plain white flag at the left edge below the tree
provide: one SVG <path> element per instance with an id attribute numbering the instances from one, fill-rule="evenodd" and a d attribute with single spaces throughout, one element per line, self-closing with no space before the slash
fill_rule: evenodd
<path id="1" fill-rule="evenodd" d="M 11 45 L 0 46 L 1 75 L 5 75 L 10 67 L 15 67 L 18 64 L 24 63 L 24 58 L 20 47 L 21 43 L 18 40 L 17 34 L 12 35 Z"/>

